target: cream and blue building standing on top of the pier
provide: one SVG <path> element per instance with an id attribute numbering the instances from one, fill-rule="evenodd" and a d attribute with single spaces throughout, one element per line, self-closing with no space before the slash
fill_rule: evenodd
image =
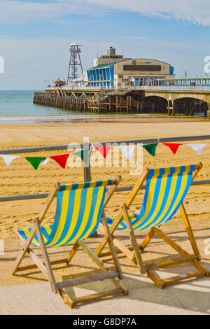
<path id="1" fill-rule="evenodd" d="M 132 59 L 116 55 L 116 48 L 109 47 L 107 54 L 93 59 L 93 65 L 74 80 L 76 85 L 126 87 L 159 85 L 162 79 L 173 79 L 174 67 L 157 59 Z"/>

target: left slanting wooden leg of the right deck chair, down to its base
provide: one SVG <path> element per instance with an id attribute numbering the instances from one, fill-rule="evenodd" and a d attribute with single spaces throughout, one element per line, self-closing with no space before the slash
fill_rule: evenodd
<path id="1" fill-rule="evenodd" d="M 134 247 L 134 254 L 136 256 L 137 265 L 140 268 L 141 274 L 145 274 L 146 271 L 145 271 L 145 268 L 144 268 L 144 262 L 141 259 L 141 254 L 140 254 L 140 251 L 139 251 L 139 246 L 137 244 L 137 239 L 136 239 L 136 237 L 134 235 L 134 230 L 132 228 L 132 223 L 130 221 L 129 214 L 127 212 L 126 204 L 123 204 L 122 205 L 122 209 L 123 209 L 123 215 L 124 215 L 124 218 L 125 218 L 125 223 L 127 225 L 127 230 L 129 232 L 129 235 L 130 235 L 130 240 L 131 240 L 132 246 Z"/>

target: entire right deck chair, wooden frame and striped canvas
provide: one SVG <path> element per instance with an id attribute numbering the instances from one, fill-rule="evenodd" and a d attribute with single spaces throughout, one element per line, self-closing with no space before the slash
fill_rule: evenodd
<path id="1" fill-rule="evenodd" d="M 144 168 L 139 181 L 132 189 L 127 201 L 122 205 L 117 217 L 107 218 L 110 232 L 113 237 L 113 243 L 118 247 L 117 253 L 124 253 L 134 264 L 138 265 L 141 274 L 147 274 L 153 282 L 160 288 L 164 288 L 169 283 L 179 282 L 184 279 L 190 279 L 197 276 L 209 276 L 209 272 L 205 267 L 200 265 L 200 252 L 197 248 L 195 237 L 193 235 L 188 216 L 186 214 L 183 200 L 186 197 L 190 184 L 195 176 L 202 168 L 202 164 L 170 167 L 161 169 L 147 169 Z M 134 201 L 139 189 L 146 180 L 146 192 L 144 195 L 144 201 L 141 207 L 139 216 L 136 214 L 129 214 L 128 209 Z M 193 254 L 190 254 L 183 250 L 179 244 L 172 241 L 167 235 L 165 235 L 160 226 L 167 223 L 180 209 L 181 216 L 183 218 L 190 244 L 193 248 Z M 134 231 L 141 231 L 150 229 L 144 241 L 138 246 L 137 240 L 134 235 Z M 114 236 L 114 233 L 129 232 L 131 247 L 126 247 L 121 241 Z M 158 235 L 165 240 L 169 246 L 174 248 L 180 255 L 177 258 L 169 258 L 169 260 L 158 261 L 153 264 L 145 265 L 141 253 L 144 251 L 148 243 L 151 241 L 154 235 Z M 104 246 L 106 246 L 106 237 L 104 237 L 97 247 L 96 254 L 99 257 L 110 255 L 109 252 L 102 253 Z M 158 246 L 157 246 L 158 248 Z M 190 262 L 191 265 L 197 269 L 195 272 L 188 274 L 174 276 L 170 279 L 160 279 L 155 270 L 158 268 L 165 268 L 171 265 L 179 265 L 183 262 Z"/>

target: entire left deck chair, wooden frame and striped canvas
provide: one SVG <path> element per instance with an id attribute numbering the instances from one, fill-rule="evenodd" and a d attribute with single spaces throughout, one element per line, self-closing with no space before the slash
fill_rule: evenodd
<path id="1" fill-rule="evenodd" d="M 123 273 L 120 269 L 118 257 L 116 255 L 113 241 L 106 222 L 106 215 L 104 207 L 109 202 L 111 195 L 116 190 L 121 177 L 116 179 L 108 179 L 103 181 L 91 181 L 85 183 L 71 183 L 68 185 L 61 185 L 56 183 L 48 195 L 47 200 L 43 206 L 38 217 L 34 218 L 34 226 L 27 230 L 15 230 L 15 235 L 18 237 L 22 249 L 18 258 L 15 261 L 13 274 L 16 272 L 38 267 L 47 276 L 50 281 L 52 291 L 59 293 L 64 301 L 70 307 L 75 306 L 81 302 L 97 300 L 101 297 L 112 295 L 127 295 L 127 290 L 118 279 L 123 279 Z M 107 188 L 108 186 L 109 189 Z M 50 207 L 53 198 L 57 195 L 57 209 L 55 213 L 55 220 L 52 225 L 41 226 L 41 222 Z M 102 223 L 100 220 L 102 218 Z M 108 270 L 102 260 L 85 244 L 83 239 L 90 237 L 97 231 L 99 225 L 103 226 L 106 235 L 106 241 L 109 243 L 111 255 L 115 270 Z M 62 260 L 54 260 L 50 262 L 47 247 L 58 247 L 73 244 L 67 258 Z M 43 253 L 44 262 L 32 251 L 30 246 L 40 246 Z M 55 276 L 52 272 L 52 265 L 66 263 L 72 260 L 73 256 L 78 251 L 78 248 L 83 248 L 83 251 L 94 260 L 94 262 L 102 269 L 102 273 L 90 276 L 83 276 L 69 281 L 56 282 Z M 20 267 L 20 262 L 25 254 L 34 261 L 35 265 L 28 265 Z M 97 280 L 111 279 L 115 284 L 113 290 L 106 290 L 102 293 L 94 293 L 92 295 L 85 295 L 84 297 L 76 297 L 72 299 L 64 291 L 64 288 L 76 286 L 81 283 L 87 283 Z"/>

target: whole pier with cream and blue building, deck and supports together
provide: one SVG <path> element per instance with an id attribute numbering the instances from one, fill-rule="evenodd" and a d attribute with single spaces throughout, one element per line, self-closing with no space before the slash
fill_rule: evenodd
<path id="1" fill-rule="evenodd" d="M 76 62 L 75 62 L 76 64 Z M 68 85 L 45 87 L 35 92 L 34 104 L 69 111 L 100 113 L 168 113 L 210 119 L 210 79 L 176 79 L 174 67 L 158 59 L 132 59 L 106 55 L 93 59 L 93 66 Z"/>

